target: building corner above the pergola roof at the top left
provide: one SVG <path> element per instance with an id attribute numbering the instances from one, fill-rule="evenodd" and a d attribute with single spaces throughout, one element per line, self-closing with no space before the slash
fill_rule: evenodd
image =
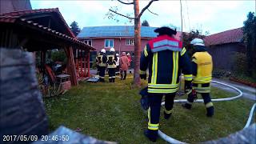
<path id="1" fill-rule="evenodd" d="M 20 10 L 32 10 L 30 0 L 0 0 L 0 14 Z"/>

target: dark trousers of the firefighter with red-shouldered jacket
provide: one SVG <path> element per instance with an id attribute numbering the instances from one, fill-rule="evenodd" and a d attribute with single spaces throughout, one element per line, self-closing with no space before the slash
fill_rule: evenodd
<path id="1" fill-rule="evenodd" d="M 165 95 L 165 113 L 171 114 L 174 106 L 174 97 L 176 93 L 173 94 L 152 94 L 149 93 L 149 103 L 150 108 L 148 109 L 148 130 L 153 134 L 157 134 L 159 126 L 160 109 L 162 103 L 162 96 Z"/>

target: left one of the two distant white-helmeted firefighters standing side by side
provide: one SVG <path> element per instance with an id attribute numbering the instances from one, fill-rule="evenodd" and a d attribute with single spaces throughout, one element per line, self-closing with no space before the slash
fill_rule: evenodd
<path id="1" fill-rule="evenodd" d="M 105 82 L 105 71 L 106 71 L 106 50 L 102 49 L 96 59 L 98 63 L 99 82 Z"/>

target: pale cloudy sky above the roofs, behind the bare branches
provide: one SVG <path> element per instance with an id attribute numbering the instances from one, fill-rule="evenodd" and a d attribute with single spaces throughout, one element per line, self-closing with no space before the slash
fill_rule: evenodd
<path id="1" fill-rule="evenodd" d="M 132 2 L 132 0 L 122 0 L 123 2 Z M 66 23 L 78 22 L 82 29 L 84 26 L 131 26 L 132 22 L 128 18 L 115 15 L 114 19 L 109 19 L 106 14 L 109 9 L 118 8 L 121 14 L 130 14 L 133 16 L 133 5 L 123 5 L 117 1 L 111 0 L 30 0 L 33 9 L 56 8 L 60 10 Z M 142 10 L 148 0 L 139 2 L 139 9 Z M 141 22 L 146 20 L 150 26 L 176 26 L 178 30 L 202 30 L 205 34 L 216 34 L 225 30 L 231 30 L 243 26 L 246 15 L 252 11 L 255 12 L 256 2 L 254 0 L 229 0 L 229 1 L 196 1 L 182 0 L 182 18 L 181 5 L 178 0 L 159 0 L 153 2 L 149 10 L 146 10 L 141 17 Z"/>

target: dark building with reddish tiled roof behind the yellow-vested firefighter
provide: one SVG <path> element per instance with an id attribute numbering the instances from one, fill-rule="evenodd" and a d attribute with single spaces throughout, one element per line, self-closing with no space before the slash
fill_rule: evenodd
<path id="1" fill-rule="evenodd" d="M 226 30 L 204 38 L 213 57 L 214 69 L 231 70 L 234 66 L 234 52 L 245 52 L 242 28 Z"/>

